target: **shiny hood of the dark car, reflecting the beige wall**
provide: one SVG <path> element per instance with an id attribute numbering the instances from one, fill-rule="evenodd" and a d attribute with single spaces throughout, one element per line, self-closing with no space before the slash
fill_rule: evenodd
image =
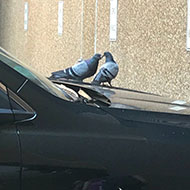
<path id="1" fill-rule="evenodd" d="M 71 85 L 79 86 L 98 92 L 103 97 L 107 97 L 107 99 L 109 99 L 111 102 L 109 105 L 110 108 L 165 112 L 185 115 L 190 114 L 190 103 L 183 100 L 170 99 L 156 94 L 124 88 L 96 86 L 91 85 L 90 83 L 78 83 L 69 81 L 62 81 L 61 83 L 66 86 L 69 85 L 69 87 Z"/>

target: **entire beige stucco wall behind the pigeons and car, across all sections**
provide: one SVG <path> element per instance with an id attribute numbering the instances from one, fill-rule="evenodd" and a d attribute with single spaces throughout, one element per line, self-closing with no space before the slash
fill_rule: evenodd
<path id="1" fill-rule="evenodd" d="M 27 2 L 24 31 L 24 0 L 0 0 L 2 47 L 45 76 L 94 54 L 96 0 L 64 0 L 62 36 L 58 0 Z M 116 42 L 109 41 L 109 7 L 109 0 L 98 0 L 96 49 L 111 51 L 119 64 L 113 85 L 190 100 L 187 1 L 118 0 Z"/>

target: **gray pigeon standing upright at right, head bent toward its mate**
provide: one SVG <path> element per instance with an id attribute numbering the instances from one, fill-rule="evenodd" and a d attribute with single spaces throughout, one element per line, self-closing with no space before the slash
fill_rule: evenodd
<path id="1" fill-rule="evenodd" d="M 106 62 L 100 67 L 98 74 L 92 81 L 92 84 L 100 85 L 102 82 L 108 82 L 111 86 L 111 80 L 117 76 L 119 67 L 110 52 L 104 52 L 103 56 L 106 57 Z"/>

